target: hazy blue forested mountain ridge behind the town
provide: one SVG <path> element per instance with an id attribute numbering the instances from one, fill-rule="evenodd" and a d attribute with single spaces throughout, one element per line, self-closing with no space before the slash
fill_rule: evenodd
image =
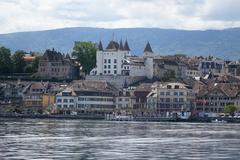
<path id="1" fill-rule="evenodd" d="M 0 34 L 0 46 L 12 51 L 43 52 L 47 48 L 70 53 L 74 41 L 128 40 L 133 54 L 140 55 L 150 42 L 157 54 L 187 54 L 240 59 L 240 28 L 187 31 L 159 28 L 64 28 L 47 31 Z"/>

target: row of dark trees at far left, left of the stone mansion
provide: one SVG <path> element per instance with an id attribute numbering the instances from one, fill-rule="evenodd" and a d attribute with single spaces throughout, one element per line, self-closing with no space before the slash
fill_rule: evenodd
<path id="1" fill-rule="evenodd" d="M 32 63 L 24 60 L 23 50 L 17 50 L 13 55 L 10 49 L 0 47 L 0 75 L 11 75 L 13 73 L 34 73 L 38 69 L 39 57 L 36 57 Z"/>

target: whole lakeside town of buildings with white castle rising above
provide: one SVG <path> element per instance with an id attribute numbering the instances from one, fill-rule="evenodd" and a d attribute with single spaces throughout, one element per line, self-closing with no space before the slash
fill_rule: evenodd
<path id="1" fill-rule="evenodd" d="M 155 53 L 141 56 L 128 41 L 97 45 L 96 64 L 83 73 L 76 57 L 48 49 L 40 55 L 36 80 L 1 79 L 1 114 L 188 118 L 238 116 L 240 61 Z M 39 55 L 38 55 L 39 56 Z M 32 63 L 36 55 L 25 55 Z M 8 77 L 9 78 L 9 77 Z M 15 79 L 11 79 L 15 78 Z M 226 113 L 227 106 L 234 110 Z"/>

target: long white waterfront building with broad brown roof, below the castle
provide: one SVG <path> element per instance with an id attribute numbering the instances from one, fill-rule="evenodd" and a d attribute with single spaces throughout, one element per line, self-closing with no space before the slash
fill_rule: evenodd
<path id="1" fill-rule="evenodd" d="M 106 81 L 74 81 L 56 95 L 56 106 L 78 113 L 111 113 L 115 91 Z"/>

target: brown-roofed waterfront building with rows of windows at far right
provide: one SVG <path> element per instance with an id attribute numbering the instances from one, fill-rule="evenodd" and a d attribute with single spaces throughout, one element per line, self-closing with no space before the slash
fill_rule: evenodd
<path id="1" fill-rule="evenodd" d="M 240 108 L 240 80 L 229 75 L 221 75 L 208 81 L 197 82 L 194 86 L 196 111 L 223 113 L 224 107 L 234 104 Z"/>

